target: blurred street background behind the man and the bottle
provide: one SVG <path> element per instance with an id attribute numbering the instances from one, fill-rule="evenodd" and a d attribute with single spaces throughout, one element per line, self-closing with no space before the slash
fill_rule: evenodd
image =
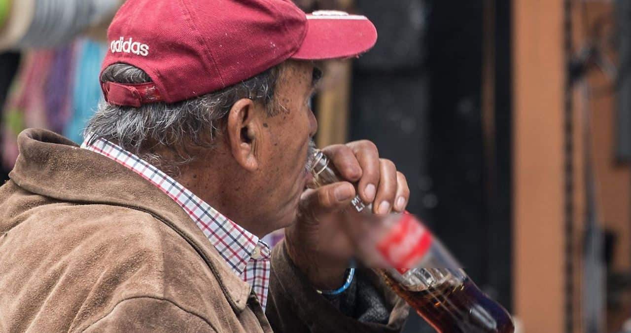
<path id="1" fill-rule="evenodd" d="M 81 141 L 122 1 L 0 0 L 0 179 L 24 128 Z M 296 2 L 379 31 L 326 64 L 318 145 L 373 140 L 518 332 L 631 332 L 631 0 Z"/>

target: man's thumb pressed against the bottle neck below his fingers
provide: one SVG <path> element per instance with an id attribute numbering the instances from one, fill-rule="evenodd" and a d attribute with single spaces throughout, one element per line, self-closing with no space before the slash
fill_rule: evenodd
<path id="1" fill-rule="evenodd" d="M 347 181 L 340 181 L 322 186 L 314 190 L 307 190 L 300 198 L 302 209 L 310 212 L 314 217 L 345 209 L 355 198 L 355 187 Z"/>

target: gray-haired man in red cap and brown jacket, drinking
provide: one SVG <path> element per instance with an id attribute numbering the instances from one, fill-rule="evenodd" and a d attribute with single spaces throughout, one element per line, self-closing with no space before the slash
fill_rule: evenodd
<path id="1" fill-rule="evenodd" d="M 129 0 L 83 148 L 27 130 L 0 188 L 0 331 L 394 332 L 403 302 L 350 267 L 356 195 L 305 190 L 314 61 L 374 45 L 363 16 L 285 0 Z M 408 185 L 366 141 L 324 150 L 374 212 Z M 259 241 L 286 228 L 272 251 Z"/>

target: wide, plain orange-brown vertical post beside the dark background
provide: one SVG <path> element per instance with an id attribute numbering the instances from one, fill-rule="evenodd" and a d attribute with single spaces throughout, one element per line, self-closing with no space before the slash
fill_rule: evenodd
<path id="1" fill-rule="evenodd" d="M 514 309 L 563 332 L 563 2 L 514 0 Z"/>

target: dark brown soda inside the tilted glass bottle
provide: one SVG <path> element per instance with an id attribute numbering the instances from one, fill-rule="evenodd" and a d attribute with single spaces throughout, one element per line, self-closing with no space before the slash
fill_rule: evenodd
<path id="1" fill-rule="evenodd" d="M 410 291 L 386 272 L 382 275 L 390 288 L 440 333 L 514 333 L 509 313 L 469 278 L 423 291 Z"/>

